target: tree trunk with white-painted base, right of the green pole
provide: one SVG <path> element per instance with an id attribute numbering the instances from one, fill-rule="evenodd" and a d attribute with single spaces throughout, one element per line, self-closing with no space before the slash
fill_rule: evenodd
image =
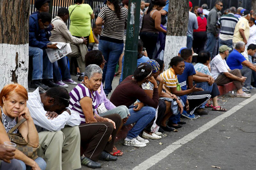
<path id="1" fill-rule="evenodd" d="M 188 0 L 169 1 L 167 34 L 164 48 L 165 69 L 180 48 L 187 45 Z"/>

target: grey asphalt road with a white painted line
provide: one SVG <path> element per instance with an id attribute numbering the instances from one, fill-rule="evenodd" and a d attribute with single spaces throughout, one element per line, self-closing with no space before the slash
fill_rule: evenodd
<path id="1" fill-rule="evenodd" d="M 113 89 L 118 79 L 114 78 Z M 70 85 L 68 91 L 74 86 Z M 252 99 L 256 98 L 255 93 L 251 93 Z M 166 132 L 162 139 L 150 140 L 143 148 L 128 147 L 119 142 L 116 147 L 124 152 L 124 156 L 118 157 L 117 161 L 99 161 L 101 169 L 219 169 L 212 166 L 226 170 L 256 169 L 256 100 L 248 102 L 229 95 L 219 99 L 219 104 L 228 109 L 228 113 L 210 111 L 194 120 L 182 118 L 187 124 L 178 132 Z M 221 116 L 224 116 L 223 120 Z M 82 166 L 81 169 L 90 168 Z"/>

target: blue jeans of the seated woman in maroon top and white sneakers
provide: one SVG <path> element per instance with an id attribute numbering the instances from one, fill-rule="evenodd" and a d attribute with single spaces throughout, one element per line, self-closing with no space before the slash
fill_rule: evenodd
<path id="1" fill-rule="evenodd" d="M 129 125 L 136 122 L 136 124 L 126 136 L 128 139 L 137 137 L 140 132 L 148 125 L 148 123 L 150 123 L 154 119 L 156 115 L 156 109 L 153 107 L 144 106 L 137 112 L 133 110 L 133 107 L 134 106 L 129 107 L 129 112 L 131 116 L 129 116 L 129 119 L 124 124 Z"/>

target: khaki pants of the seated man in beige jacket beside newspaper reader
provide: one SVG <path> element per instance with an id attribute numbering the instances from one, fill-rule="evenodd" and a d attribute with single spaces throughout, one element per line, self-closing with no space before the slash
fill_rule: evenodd
<path id="1" fill-rule="evenodd" d="M 76 61 L 77 61 L 79 70 L 81 73 L 83 73 L 85 70 L 84 56 L 88 52 L 88 49 L 86 48 L 86 46 L 84 44 L 79 44 L 78 46 L 76 46 L 74 44 L 70 44 L 70 48 L 71 48 L 72 52 L 67 55 L 69 58 L 69 61 L 70 61 L 70 57 L 76 57 Z M 82 50 L 82 52 L 80 50 Z"/>

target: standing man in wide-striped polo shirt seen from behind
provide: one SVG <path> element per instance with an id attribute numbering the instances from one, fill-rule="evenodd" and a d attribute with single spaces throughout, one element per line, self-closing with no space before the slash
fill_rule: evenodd
<path id="1" fill-rule="evenodd" d="M 217 27 L 220 27 L 219 47 L 227 45 L 229 48 L 232 48 L 232 39 L 236 23 L 239 21 L 239 19 L 234 16 L 235 13 L 236 7 L 230 7 L 229 13 L 227 15 L 222 15 L 217 23 Z"/>

